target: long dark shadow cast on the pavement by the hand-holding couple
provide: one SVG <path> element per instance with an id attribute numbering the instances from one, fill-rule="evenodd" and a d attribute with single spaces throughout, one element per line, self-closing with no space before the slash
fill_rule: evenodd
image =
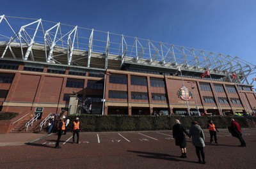
<path id="1" fill-rule="evenodd" d="M 142 158 L 152 158 L 152 159 L 164 159 L 164 160 L 170 160 L 170 161 L 184 161 L 184 162 L 188 162 L 188 163 L 197 163 L 196 161 L 188 161 L 188 160 L 184 160 L 181 159 L 179 156 L 172 156 L 170 154 L 161 154 L 161 153 L 156 153 L 156 152 L 143 152 L 143 151 L 128 151 L 128 152 L 134 152 L 134 153 L 138 153 L 140 155 L 138 155 L 139 157 Z M 144 155 L 142 155 L 144 154 Z M 177 159 L 180 158 L 180 159 Z"/>

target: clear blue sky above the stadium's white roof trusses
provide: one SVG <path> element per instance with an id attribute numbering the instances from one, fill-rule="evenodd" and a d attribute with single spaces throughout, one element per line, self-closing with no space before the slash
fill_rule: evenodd
<path id="1" fill-rule="evenodd" d="M 255 0 L 2 1 L 0 15 L 238 56 L 256 65 Z"/>

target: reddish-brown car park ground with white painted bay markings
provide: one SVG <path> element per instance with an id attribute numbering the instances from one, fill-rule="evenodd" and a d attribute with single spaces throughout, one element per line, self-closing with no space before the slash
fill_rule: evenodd
<path id="1" fill-rule="evenodd" d="M 247 147 L 238 147 L 239 140 L 227 129 L 219 131 L 218 144 L 211 144 L 204 130 L 205 165 L 196 163 L 190 138 L 188 158 L 179 157 L 172 131 L 80 133 L 78 144 L 67 133 L 61 137 L 61 149 L 54 148 L 55 134 L 11 133 L 0 135 L 0 168 L 255 168 L 256 129 L 242 130 Z M 4 138 L 15 135 L 16 140 Z M 9 145 L 3 144 L 6 140 Z"/>

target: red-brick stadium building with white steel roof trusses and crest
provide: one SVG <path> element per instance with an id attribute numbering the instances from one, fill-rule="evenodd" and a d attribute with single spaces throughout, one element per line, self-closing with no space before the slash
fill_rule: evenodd
<path id="1" fill-rule="evenodd" d="M 256 107 L 239 57 L 0 16 L 0 111 L 39 115 L 230 115 Z M 252 78 L 250 78 L 252 79 Z"/>

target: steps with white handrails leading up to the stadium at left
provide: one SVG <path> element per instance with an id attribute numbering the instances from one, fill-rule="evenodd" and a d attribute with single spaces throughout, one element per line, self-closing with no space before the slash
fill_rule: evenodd
<path id="1" fill-rule="evenodd" d="M 12 131 L 10 131 L 10 133 L 20 133 L 20 132 L 24 132 L 24 133 L 45 133 L 47 132 L 47 128 L 48 126 L 45 125 L 42 128 L 42 131 L 40 131 L 40 120 L 33 122 L 32 126 L 28 126 L 28 131 L 26 131 L 26 123 L 28 122 L 28 120 L 24 120 L 22 122 L 20 122 L 19 124 L 17 124 L 17 126 L 15 126 L 15 128 L 12 129 Z"/>

